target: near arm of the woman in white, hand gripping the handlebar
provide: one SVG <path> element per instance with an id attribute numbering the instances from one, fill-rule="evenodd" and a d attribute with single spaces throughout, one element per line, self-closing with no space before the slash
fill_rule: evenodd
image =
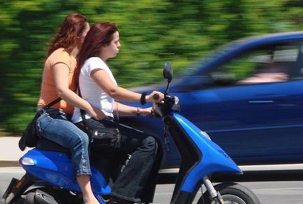
<path id="1" fill-rule="evenodd" d="M 110 97 L 124 101 L 124 102 L 140 102 L 141 94 L 129 91 L 126 88 L 121 88 L 114 84 L 114 81 L 110 78 L 110 75 L 106 70 L 95 69 L 91 71 L 91 79 L 105 91 Z M 158 93 L 158 100 L 154 99 L 153 95 Z M 163 102 L 164 95 L 161 92 L 153 91 L 150 95 L 145 97 L 147 102 Z"/>

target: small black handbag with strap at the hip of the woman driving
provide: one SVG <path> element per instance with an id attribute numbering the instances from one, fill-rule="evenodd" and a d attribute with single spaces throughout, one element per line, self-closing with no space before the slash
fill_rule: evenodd
<path id="1" fill-rule="evenodd" d="M 78 95 L 82 97 L 80 88 L 78 88 Z M 82 116 L 82 124 L 87 129 L 89 136 L 89 147 L 92 150 L 113 150 L 121 146 L 121 134 L 118 127 L 89 127 L 85 123 L 85 111 L 80 109 Z"/>

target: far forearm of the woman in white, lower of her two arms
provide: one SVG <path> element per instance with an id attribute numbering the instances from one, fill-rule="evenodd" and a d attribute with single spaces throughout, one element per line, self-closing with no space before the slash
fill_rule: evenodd
<path id="1" fill-rule="evenodd" d="M 140 107 L 131 107 L 119 102 L 114 102 L 114 114 L 117 114 L 117 109 L 119 111 L 119 116 L 137 116 L 138 112 L 140 116 L 147 116 L 152 111 L 152 107 L 141 109 Z"/>

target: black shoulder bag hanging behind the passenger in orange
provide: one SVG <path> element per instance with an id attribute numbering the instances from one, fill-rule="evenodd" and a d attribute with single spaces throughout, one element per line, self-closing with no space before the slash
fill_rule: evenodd
<path id="1" fill-rule="evenodd" d="M 42 109 L 39 109 L 39 111 L 36 112 L 36 116 L 33 120 L 27 125 L 27 128 L 24 130 L 21 139 L 19 140 L 19 148 L 20 150 L 24 150 L 26 147 L 34 148 L 36 147 L 36 143 L 39 139 L 38 133 L 36 132 L 36 121 L 38 118 L 42 115 L 43 109 L 48 109 L 54 104 L 57 104 L 61 98 L 57 98 L 57 100 L 54 100 L 53 102 L 50 102 L 50 104 L 47 104 L 47 106 L 43 107 Z"/>

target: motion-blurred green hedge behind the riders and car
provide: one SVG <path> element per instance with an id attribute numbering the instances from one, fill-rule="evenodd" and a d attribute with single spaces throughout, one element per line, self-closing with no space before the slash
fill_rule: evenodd
<path id="1" fill-rule="evenodd" d="M 0 130 L 20 134 L 34 116 L 47 42 L 69 13 L 114 22 L 121 49 L 109 64 L 120 86 L 162 79 L 223 43 L 302 28 L 302 1 L 0 0 Z"/>

